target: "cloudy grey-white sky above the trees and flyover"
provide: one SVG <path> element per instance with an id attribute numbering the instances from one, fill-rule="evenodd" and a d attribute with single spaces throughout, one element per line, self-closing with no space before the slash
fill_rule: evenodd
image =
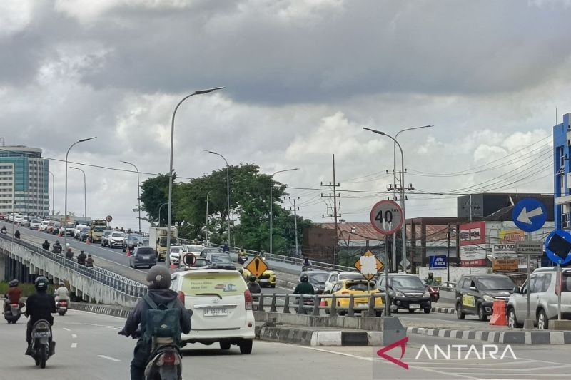
<path id="1" fill-rule="evenodd" d="M 552 192 L 550 133 L 571 112 L 570 1 L 3 0 L 0 137 L 63 159 L 193 178 L 256 163 L 323 221 L 320 182 L 367 221 L 399 136 L 407 216 L 454 216 L 455 195 Z M 557 113 L 555 111 L 557 108 Z M 64 165 L 56 210 L 64 208 Z M 398 163 L 400 166 L 400 162 Z M 88 214 L 136 226 L 136 174 L 81 166 Z M 69 209 L 83 213 L 81 173 Z M 146 178 L 146 175 L 142 179 Z M 326 194 L 327 189 L 323 188 Z M 331 205 L 330 202 L 328 202 Z M 330 221 L 330 220 L 325 220 Z"/>

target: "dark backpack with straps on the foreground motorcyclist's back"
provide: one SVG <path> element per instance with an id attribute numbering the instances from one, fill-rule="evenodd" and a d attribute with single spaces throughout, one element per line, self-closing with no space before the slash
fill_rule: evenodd
<path id="1" fill-rule="evenodd" d="M 143 299 L 150 307 L 146 311 L 145 332 L 143 341 L 152 344 L 156 338 L 172 338 L 175 344 L 181 344 L 181 309 L 176 306 L 178 299 L 168 304 L 157 305 L 148 294 Z"/>

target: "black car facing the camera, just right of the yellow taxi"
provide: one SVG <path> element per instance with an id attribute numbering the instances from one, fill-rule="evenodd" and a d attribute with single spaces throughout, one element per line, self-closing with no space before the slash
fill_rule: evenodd
<path id="1" fill-rule="evenodd" d="M 414 274 L 390 274 L 388 282 L 390 309 L 393 312 L 408 309 L 409 313 L 413 313 L 417 309 L 423 309 L 425 313 L 430 313 L 432 301 L 420 278 Z M 387 290 L 386 276 L 379 277 L 377 287 L 380 292 Z"/>

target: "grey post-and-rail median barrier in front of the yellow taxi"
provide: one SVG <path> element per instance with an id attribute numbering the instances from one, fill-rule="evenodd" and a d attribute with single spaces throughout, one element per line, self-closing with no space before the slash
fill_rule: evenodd
<path id="1" fill-rule="evenodd" d="M 270 309 L 269 312 L 278 312 L 278 299 L 283 298 L 283 313 L 284 314 L 291 314 L 290 308 L 295 309 L 298 314 L 310 314 L 313 316 L 320 315 L 320 310 L 325 310 L 325 312 L 331 316 L 336 317 L 340 313 L 347 315 L 348 317 L 353 317 L 355 312 L 361 312 L 367 314 L 369 317 L 380 316 L 380 314 L 385 309 L 385 293 L 373 293 L 373 294 L 363 294 L 363 295 L 355 295 L 355 294 L 348 294 L 348 295 L 336 295 L 336 294 L 279 294 L 279 293 L 269 293 L 269 294 L 252 294 L 254 305 L 257 306 L 258 312 L 265 312 L 264 309 L 266 307 L 266 303 L 264 301 L 265 298 L 270 298 Z M 303 302 L 300 302 L 300 299 L 303 298 Z M 358 305 L 355 306 L 355 299 L 368 299 L 367 307 L 360 307 Z M 375 299 L 383 299 L 383 305 L 380 307 L 375 307 Z M 290 299 L 294 299 L 297 302 L 291 305 Z M 329 306 L 322 306 L 321 300 L 323 299 L 330 299 Z M 349 304 L 347 308 L 339 307 L 337 304 L 338 299 L 349 299 Z M 258 300 L 256 302 L 256 300 Z M 305 304 L 305 301 L 310 301 L 310 304 Z M 282 307 L 282 306 L 280 306 Z"/>

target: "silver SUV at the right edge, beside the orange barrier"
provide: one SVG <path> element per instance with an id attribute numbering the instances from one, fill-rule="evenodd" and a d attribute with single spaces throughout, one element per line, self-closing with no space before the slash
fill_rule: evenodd
<path id="1" fill-rule="evenodd" d="M 521 327 L 527 319 L 527 291 L 530 290 L 531 317 L 539 329 L 547 329 L 557 319 L 557 267 L 537 268 L 521 287 L 515 287 L 507 301 L 507 326 Z M 562 269 L 561 318 L 571 319 L 571 269 Z"/>

